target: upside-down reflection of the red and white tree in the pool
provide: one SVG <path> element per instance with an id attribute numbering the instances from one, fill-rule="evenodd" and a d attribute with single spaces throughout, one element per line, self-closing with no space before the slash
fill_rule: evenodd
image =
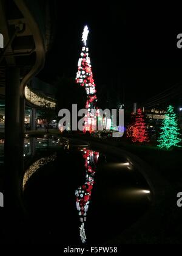
<path id="1" fill-rule="evenodd" d="M 82 223 L 79 227 L 79 235 L 81 237 L 82 243 L 86 242 L 86 233 L 84 229 L 84 223 L 87 220 L 87 211 L 90 203 L 90 196 L 92 193 L 94 176 L 96 171 L 96 163 L 98 161 L 99 153 L 91 151 L 89 149 L 83 151 L 83 158 L 85 160 L 86 168 L 86 181 L 84 185 L 80 186 L 78 190 L 75 191 L 76 195 L 76 208 L 79 214 L 79 221 Z"/>

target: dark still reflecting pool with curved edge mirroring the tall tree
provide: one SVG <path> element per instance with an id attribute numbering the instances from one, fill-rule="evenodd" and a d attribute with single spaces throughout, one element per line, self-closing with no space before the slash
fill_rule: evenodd
<path id="1" fill-rule="evenodd" d="M 33 243 L 106 243 L 149 208 L 146 180 L 122 155 L 67 138 L 34 139 L 23 188 Z"/>

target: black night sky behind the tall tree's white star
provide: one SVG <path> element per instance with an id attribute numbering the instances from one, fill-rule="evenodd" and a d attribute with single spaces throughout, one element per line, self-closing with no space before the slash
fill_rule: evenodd
<path id="1" fill-rule="evenodd" d="M 57 3 L 55 41 L 39 74 L 75 77 L 81 34 L 89 26 L 89 54 L 96 87 L 113 87 L 129 101 L 143 102 L 182 81 L 180 7 L 170 5 Z M 178 11 L 179 10 L 179 11 Z"/>

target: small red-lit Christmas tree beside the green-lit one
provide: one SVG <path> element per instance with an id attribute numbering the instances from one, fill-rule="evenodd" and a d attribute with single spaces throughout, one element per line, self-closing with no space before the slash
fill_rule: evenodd
<path id="1" fill-rule="evenodd" d="M 135 123 L 132 126 L 132 141 L 144 142 L 149 141 L 144 115 L 141 108 L 136 110 Z"/>

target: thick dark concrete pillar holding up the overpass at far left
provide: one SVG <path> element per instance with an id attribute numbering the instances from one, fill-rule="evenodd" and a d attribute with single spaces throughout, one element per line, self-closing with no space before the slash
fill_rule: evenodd
<path id="1" fill-rule="evenodd" d="M 15 212 L 20 210 L 22 150 L 19 124 L 19 68 L 7 68 L 5 84 L 5 187 L 4 205 Z"/>

